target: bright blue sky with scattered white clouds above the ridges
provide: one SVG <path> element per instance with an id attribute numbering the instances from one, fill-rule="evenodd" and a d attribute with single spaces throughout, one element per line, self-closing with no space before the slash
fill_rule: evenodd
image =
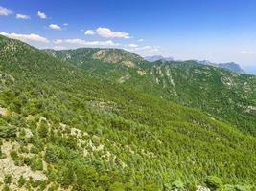
<path id="1" fill-rule="evenodd" d="M 0 34 L 37 48 L 236 62 L 256 74 L 256 0 L 0 0 Z"/>

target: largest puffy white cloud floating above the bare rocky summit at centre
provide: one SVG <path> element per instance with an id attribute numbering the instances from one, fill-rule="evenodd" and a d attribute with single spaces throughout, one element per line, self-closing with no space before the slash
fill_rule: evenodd
<path id="1" fill-rule="evenodd" d="M 88 30 L 84 34 L 86 34 L 86 35 L 97 34 L 104 38 L 126 38 L 126 39 L 130 38 L 128 32 L 114 32 L 114 31 L 110 30 L 109 28 L 104 28 L 104 27 L 99 27 L 95 31 Z"/>

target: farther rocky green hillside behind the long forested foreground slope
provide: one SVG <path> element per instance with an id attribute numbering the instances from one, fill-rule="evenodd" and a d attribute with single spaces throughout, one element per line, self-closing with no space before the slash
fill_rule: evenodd
<path id="1" fill-rule="evenodd" d="M 125 56 L 135 63 L 134 68 L 120 64 L 95 61 L 83 57 L 95 49 L 52 51 L 69 62 L 80 65 L 83 72 L 111 79 L 123 86 L 137 89 L 185 106 L 198 108 L 215 117 L 227 120 L 238 129 L 256 135 L 256 76 L 237 74 L 218 67 L 201 65 L 196 61 L 136 62 L 136 56 Z M 121 50 L 111 55 L 122 57 Z M 128 54 L 128 53 L 127 53 Z M 109 56 L 111 56 L 109 55 Z M 122 58 L 120 58 L 122 59 Z"/>

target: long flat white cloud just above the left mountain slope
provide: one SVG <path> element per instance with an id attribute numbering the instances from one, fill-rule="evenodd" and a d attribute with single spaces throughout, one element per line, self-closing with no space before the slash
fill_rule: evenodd
<path id="1" fill-rule="evenodd" d="M 9 38 L 21 40 L 24 42 L 41 42 L 41 43 L 48 43 L 49 40 L 45 37 L 42 37 L 38 34 L 31 33 L 31 34 L 20 34 L 20 33 L 6 33 L 6 32 L 0 32 L 1 35 L 5 35 Z"/>

